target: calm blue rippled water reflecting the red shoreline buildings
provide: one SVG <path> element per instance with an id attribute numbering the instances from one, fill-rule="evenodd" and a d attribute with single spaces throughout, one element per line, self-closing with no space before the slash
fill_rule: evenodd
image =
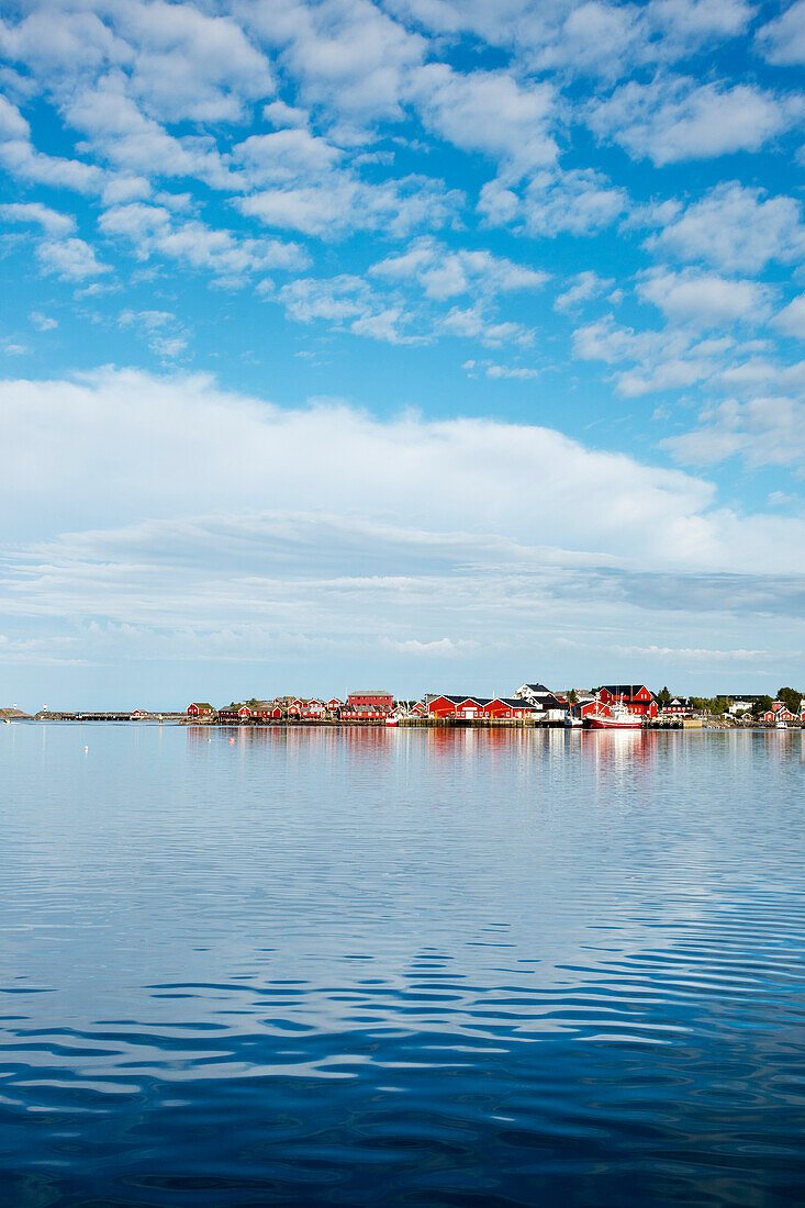
<path id="1" fill-rule="evenodd" d="M 2 1202 L 804 1202 L 804 739 L 0 726 Z"/>

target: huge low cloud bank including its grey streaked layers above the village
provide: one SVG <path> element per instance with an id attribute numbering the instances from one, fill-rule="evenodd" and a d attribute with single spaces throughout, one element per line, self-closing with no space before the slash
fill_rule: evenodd
<path id="1" fill-rule="evenodd" d="M 411 654 L 442 657 L 446 635 L 475 681 L 512 683 L 534 650 L 558 674 L 580 635 L 587 667 L 613 643 L 746 647 L 748 616 L 753 649 L 790 641 L 801 519 L 717 509 L 701 478 L 550 429 L 285 411 L 205 377 L 111 370 L 2 383 L 6 414 L 0 615 L 16 661 L 34 657 L 31 617 L 37 660 L 80 646 L 105 674 L 162 655 L 284 660 L 319 684 L 323 660 L 357 674 L 378 657 L 405 683 Z M 523 506 L 534 483 L 562 506 Z"/>

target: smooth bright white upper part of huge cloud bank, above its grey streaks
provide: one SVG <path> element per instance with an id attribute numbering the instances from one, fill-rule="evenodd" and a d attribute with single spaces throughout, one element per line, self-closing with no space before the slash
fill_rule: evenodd
<path id="1" fill-rule="evenodd" d="M 710 484 L 586 449 L 546 428 L 413 416 L 381 422 L 342 405 L 283 411 L 226 394 L 207 377 L 111 370 L 75 382 L 6 383 L 0 400 L 17 417 L 0 475 L 0 503 L 17 530 L 50 524 L 54 501 L 60 525 L 75 528 L 98 523 L 98 499 L 104 523 L 117 524 L 176 510 L 192 517 L 210 499 L 232 510 L 253 509 L 259 498 L 266 510 L 282 511 L 300 481 L 315 483 L 328 510 L 344 482 L 359 482 L 348 506 L 375 521 L 405 515 L 427 527 L 439 517 L 445 530 L 481 522 L 503 525 L 509 539 L 630 559 L 729 562 L 716 548 L 717 523 L 702 524 Z M 535 481 L 549 495 L 585 482 L 585 500 L 574 509 L 568 494 L 567 507 L 523 509 Z M 590 495 L 598 500 L 592 511 Z M 740 557 L 749 565 L 751 548 Z M 788 550 L 786 561 L 792 557 Z"/>

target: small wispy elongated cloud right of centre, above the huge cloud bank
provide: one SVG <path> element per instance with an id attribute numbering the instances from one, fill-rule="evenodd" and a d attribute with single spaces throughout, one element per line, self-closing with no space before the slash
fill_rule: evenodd
<path id="1" fill-rule="evenodd" d="M 430 237 L 416 239 L 405 251 L 388 256 L 369 269 L 390 281 L 416 280 L 428 297 L 444 301 L 461 294 L 498 294 L 539 290 L 549 274 L 516 265 L 486 249 L 450 250 Z"/>

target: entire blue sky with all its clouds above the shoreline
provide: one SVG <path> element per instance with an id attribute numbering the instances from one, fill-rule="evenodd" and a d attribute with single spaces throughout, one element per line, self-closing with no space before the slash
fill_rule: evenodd
<path id="1" fill-rule="evenodd" d="M 0 60 L 0 705 L 805 685 L 805 0 Z"/>

